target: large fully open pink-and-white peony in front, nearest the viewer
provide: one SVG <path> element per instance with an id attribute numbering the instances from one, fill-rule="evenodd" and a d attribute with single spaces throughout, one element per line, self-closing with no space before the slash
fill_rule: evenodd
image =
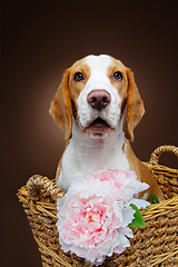
<path id="1" fill-rule="evenodd" d="M 132 237 L 132 233 L 127 225 L 135 211 L 128 207 L 123 212 L 106 190 L 100 190 L 101 181 L 89 184 L 78 182 L 58 199 L 57 227 L 65 253 L 70 250 L 90 263 L 101 264 L 105 256 L 122 253 L 130 246 L 127 237 Z"/>

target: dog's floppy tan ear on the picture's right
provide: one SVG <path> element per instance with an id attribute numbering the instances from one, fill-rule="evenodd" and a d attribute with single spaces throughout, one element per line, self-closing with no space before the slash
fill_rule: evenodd
<path id="1" fill-rule="evenodd" d="M 123 122 L 125 137 L 134 141 L 134 129 L 140 121 L 145 113 L 145 107 L 142 99 L 139 95 L 138 88 L 134 80 L 134 75 L 127 68 L 126 69 L 128 78 L 128 91 L 127 91 L 127 109 L 126 109 L 126 120 Z"/>

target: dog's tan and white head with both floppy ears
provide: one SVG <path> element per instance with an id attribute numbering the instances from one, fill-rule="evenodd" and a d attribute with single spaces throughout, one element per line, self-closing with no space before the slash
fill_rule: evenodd
<path id="1" fill-rule="evenodd" d="M 132 141 L 144 112 L 131 71 L 106 55 L 88 56 L 68 69 L 50 106 L 66 140 L 71 138 L 72 119 L 87 136 L 105 138 L 123 117 L 125 137 Z"/>

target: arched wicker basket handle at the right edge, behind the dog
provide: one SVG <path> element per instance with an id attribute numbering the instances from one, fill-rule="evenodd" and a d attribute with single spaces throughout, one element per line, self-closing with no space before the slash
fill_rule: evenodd
<path id="1" fill-rule="evenodd" d="M 175 146 L 160 146 L 157 149 L 154 150 L 154 152 L 150 156 L 149 164 L 150 165 L 158 165 L 158 160 L 161 156 L 161 154 L 170 152 L 178 157 L 178 147 Z"/>

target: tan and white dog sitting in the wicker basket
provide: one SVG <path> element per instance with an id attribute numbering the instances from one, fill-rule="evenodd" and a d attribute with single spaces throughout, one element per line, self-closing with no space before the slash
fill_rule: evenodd
<path id="1" fill-rule="evenodd" d="M 145 108 L 134 75 L 119 60 L 100 55 L 77 61 L 63 75 L 49 111 L 65 131 L 66 149 L 56 176 L 65 191 L 76 176 L 122 169 L 135 170 L 150 186 L 140 198 L 149 200 L 154 191 L 164 199 L 129 144 Z"/>

